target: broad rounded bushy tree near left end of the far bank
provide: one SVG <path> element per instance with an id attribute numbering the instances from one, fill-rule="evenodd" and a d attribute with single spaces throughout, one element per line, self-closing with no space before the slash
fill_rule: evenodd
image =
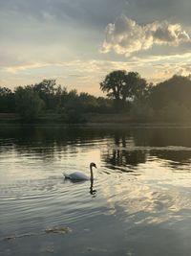
<path id="1" fill-rule="evenodd" d="M 39 98 L 33 87 L 17 87 L 15 90 L 15 105 L 17 112 L 26 121 L 32 121 L 38 117 L 44 103 Z"/>

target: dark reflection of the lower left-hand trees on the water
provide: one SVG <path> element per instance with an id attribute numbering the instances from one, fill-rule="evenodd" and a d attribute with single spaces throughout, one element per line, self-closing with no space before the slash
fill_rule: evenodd
<path id="1" fill-rule="evenodd" d="M 11 151 L 12 147 L 18 154 L 31 154 L 41 159 L 61 157 L 61 152 L 73 151 L 76 145 L 103 138 L 105 131 L 75 127 L 17 127 L 0 128 L 0 151 Z M 1 147 L 2 142 L 2 147 Z M 6 147 L 5 149 L 5 145 Z"/>

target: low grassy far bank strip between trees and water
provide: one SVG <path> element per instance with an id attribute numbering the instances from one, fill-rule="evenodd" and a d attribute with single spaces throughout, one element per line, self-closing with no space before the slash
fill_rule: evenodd
<path id="1" fill-rule="evenodd" d="M 38 119 L 33 120 L 32 122 L 26 122 L 21 119 L 18 114 L 14 113 L 0 113 L 0 126 L 20 126 L 20 125 L 30 125 L 30 126 L 81 126 L 86 127 L 191 127 L 189 122 L 159 122 L 157 120 L 148 122 L 148 121 L 133 121 L 127 114 L 97 114 L 91 113 L 84 115 L 84 122 L 78 124 L 66 123 L 62 120 L 61 115 L 59 114 L 42 114 Z"/>

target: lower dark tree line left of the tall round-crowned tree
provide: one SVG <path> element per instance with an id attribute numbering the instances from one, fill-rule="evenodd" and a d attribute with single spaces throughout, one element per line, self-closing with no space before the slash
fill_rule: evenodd
<path id="1" fill-rule="evenodd" d="M 109 112 L 112 101 L 88 93 L 77 93 L 56 84 L 55 80 L 18 86 L 13 91 L 0 87 L 0 113 L 18 113 L 25 121 L 32 122 L 40 114 L 54 113 L 68 123 L 83 122 L 83 113 Z"/>

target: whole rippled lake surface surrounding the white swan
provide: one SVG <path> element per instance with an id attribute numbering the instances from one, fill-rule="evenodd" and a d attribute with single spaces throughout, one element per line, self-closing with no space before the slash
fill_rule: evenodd
<path id="1" fill-rule="evenodd" d="M 190 187 L 191 128 L 0 128 L 0 255 L 191 255 Z"/>

